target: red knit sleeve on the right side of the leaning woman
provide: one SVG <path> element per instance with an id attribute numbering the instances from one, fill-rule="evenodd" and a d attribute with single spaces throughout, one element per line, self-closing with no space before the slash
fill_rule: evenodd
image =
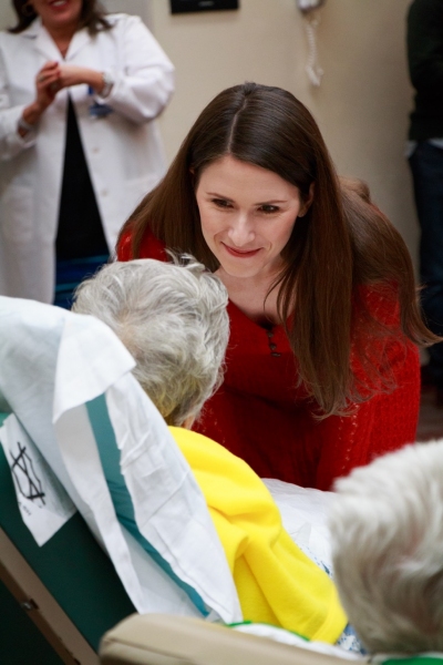
<path id="1" fill-rule="evenodd" d="M 375 395 L 354 407 L 347 417 L 331 417 L 321 423 L 322 446 L 316 487 L 330 489 L 333 479 L 347 475 L 353 467 L 368 464 L 375 457 L 415 440 L 420 407 L 420 359 L 418 348 L 399 332 L 400 307 L 389 288 L 360 289 L 360 304 L 387 328 L 385 335 L 368 335 L 360 319 L 360 352 L 372 361 L 380 375 L 370 376 L 353 354 L 352 367 L 361 386 Z M 357 316 L 359 305 L 356 305 Z M 381 377 L 384 377 L 385 382 Z M 365 389 L 362 390 L 363 395 Z"/>

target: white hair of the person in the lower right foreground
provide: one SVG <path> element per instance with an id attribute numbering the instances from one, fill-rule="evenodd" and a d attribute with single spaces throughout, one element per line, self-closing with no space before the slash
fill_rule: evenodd
<path id="1" fill-rule="evenodd" d="M 330 515 L 342 605 L 372 653 L 443 651 L 443 440 L 336 482 Z"/>

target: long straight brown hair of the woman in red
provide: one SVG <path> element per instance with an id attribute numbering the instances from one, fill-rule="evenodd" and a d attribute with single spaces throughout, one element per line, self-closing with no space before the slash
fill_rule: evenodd
<path id="1" fill-rule="evenodd" d="M 131 231 L 133 256 L 140 256 L 150 226 L 167 247 L 218 268 L 202 234 L 195 188 L 203 170 L 225 155 L 277 173 L 299 188 L 303 201 L 313 187 L 312 204 L 295 224 L 275 285 L 300 382 L 326 416 L 344 412 L 350 400 L 392 388 L 390 377 L 377 369 L 385 346 L 374 359 L 367 358 L 368 345 L 359 342 L 364 337 L 360 332 L 368 339 L 369 329 L 380 339 L 387 336 L 385 321 L 369 314 L 359 287 L 382 285 L 393 307 L 400 298 L 404 334 L 416 344 L 435 341 L 419 313 L 409 252 L 370 203 L 369 192 L 364 200 L 363 185 L 340 184 L 312 115 L 289 92 L 245 83 L 223 91 L 204 109 L 164 180 L 123 227 L 123 236 Z M 399 325 L 391 328 L 399 338 Z M 351 369 L 356 354 L 371 370 L 365 386 L 358 385 Z"/>

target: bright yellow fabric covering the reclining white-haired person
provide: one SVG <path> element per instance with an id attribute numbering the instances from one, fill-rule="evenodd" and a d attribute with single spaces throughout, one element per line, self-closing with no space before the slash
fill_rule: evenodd
<path id="1" fill-rule="evenodd" d="M 347 617 L 334 584 L 284 530 L 279 510 L 258 475 L 215 441 L 169 429 L 206 498 L 245 621 L 337 642 Z"/>

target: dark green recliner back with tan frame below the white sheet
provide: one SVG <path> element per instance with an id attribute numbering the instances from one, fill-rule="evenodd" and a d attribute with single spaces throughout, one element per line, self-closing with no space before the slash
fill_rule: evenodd
<path id="1" fill-rule="evenodd" d="M 0 424 L 7 417 L 0 413 Z M 97 663 L 103 633 L 134 613 L 79 513 L 39 546 L 19 512 L 0 447 L 0 663 Z"/>

